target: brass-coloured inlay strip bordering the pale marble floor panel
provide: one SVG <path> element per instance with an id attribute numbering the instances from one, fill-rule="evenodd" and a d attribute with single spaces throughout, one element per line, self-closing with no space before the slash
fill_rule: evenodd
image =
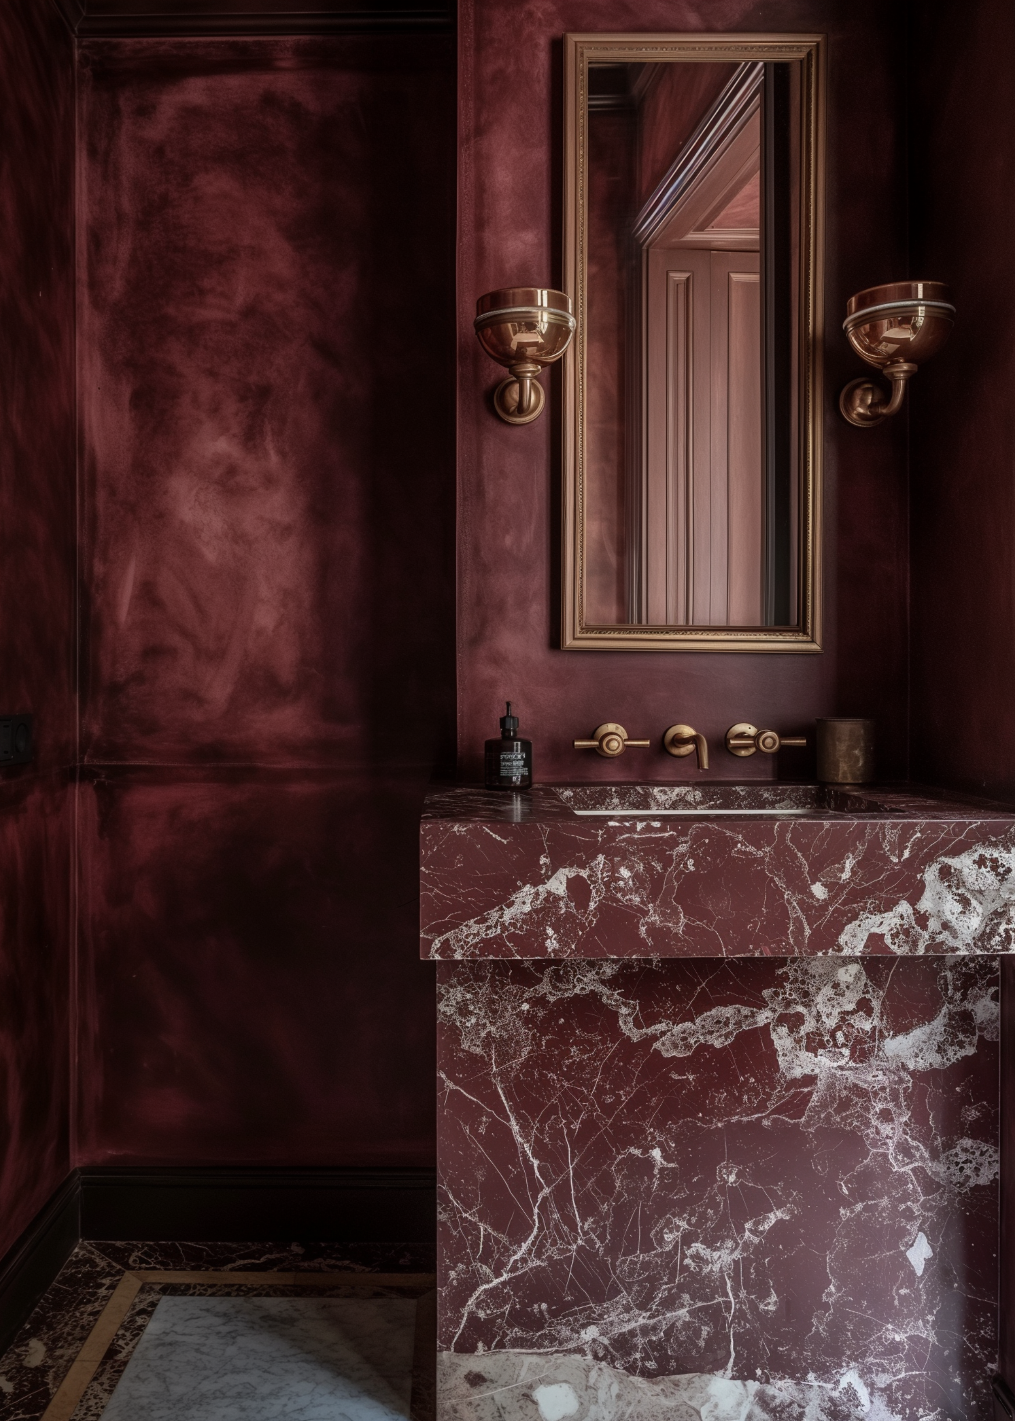
<path id="1" fill-rule="evenodd" d="M 100 1368 L 109 1346 L 127 1317 L 131 1303 L 149 1283 L 206 1283 L 212 1287 L 422 1287 L 432 1289 L 434 1273 L 247 1273 L 212 1269 L 138 1268 L 121 1277 L 117 1289 L 60 1383 L 40 1421 L 71 1421 L 81 1397 Z M 417 1329 L 418 1336 L 418 1329 Z"/>

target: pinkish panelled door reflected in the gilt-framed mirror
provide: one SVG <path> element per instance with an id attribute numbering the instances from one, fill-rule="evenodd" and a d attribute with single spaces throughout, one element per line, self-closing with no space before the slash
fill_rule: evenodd
<path id="1" fill-rule="evenodd" d="M 641 621 L 763 621 L 761 288 L 753 252 L 648 253 Z"/>

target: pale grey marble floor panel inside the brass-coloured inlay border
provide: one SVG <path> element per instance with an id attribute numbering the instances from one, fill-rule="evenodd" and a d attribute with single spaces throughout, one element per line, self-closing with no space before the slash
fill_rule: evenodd
<path id="1" fill-rule="evenodd" d="M 162 1297 L 104 1421 L 408 1417 L 415 1302 Z"/>

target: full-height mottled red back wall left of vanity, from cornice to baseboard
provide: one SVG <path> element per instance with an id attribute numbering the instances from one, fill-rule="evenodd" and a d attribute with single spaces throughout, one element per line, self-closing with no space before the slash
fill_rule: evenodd
<path id="1" fill-rule="evenodd" d="M 81 45 L 82 1162 L 432 1158 L 453 51 Z"/>

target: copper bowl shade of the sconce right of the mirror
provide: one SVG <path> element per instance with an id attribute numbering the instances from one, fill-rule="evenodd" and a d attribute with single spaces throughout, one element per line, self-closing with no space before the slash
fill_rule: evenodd
<path id="1" fill-rule="evenodd" d="M 923 365 L 951 335 L 955 307 L 942 281 L 888 281 L 846 303 L 843 330 L 869 365 Z"/>

